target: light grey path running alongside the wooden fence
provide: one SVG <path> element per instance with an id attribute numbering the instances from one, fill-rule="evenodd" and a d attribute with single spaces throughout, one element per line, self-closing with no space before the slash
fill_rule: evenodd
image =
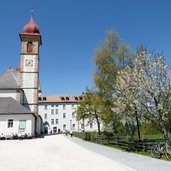
<path id="1" fill-rule="evenodd" d="M 163 161 L 153 159 L 151 157 L 128 153 L 110 147 L 89 143 L 78 138 L 70 138 L 69 136 L 68 139 L 86 149 L 92 150 L 137 171 L 171 171 L 171 161 Z"/>

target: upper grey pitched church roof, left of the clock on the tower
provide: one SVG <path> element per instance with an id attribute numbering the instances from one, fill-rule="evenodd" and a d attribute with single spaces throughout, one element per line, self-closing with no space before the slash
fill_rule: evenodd
<path id="1" fill-rule="evenodd" d="M 0 89 L 18 89 L 19 85 L 19 71 L 12 68 L 8 69 L 0 75 Z"/>

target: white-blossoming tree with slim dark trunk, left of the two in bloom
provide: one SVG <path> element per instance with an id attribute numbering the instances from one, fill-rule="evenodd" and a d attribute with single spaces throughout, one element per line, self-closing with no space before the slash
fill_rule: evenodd
<path id="1" fill-rule="evenodd" d="M 125 69 L 118 71 L 117 93 L 114 97 L 114 110 L 122 115 L 123 122 L 126 122 L 129 127 L 131 137 L 134 135 L 136 124 L 139 140 L 141 139 L 139 129 L 141 89 L 139 84 L 142 76 L 143 72 L 137 70 L 136 67 L 127 66 Z"/>

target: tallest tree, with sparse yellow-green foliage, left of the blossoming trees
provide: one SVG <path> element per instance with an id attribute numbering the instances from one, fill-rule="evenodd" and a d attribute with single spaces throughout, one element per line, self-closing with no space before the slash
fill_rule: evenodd
<path id="1" fill-rule="evenodd" d="M 96 72 L 94 81 L 103 102 L 103 122 L 117 132 L 118 115 L 113 111 L 113 94 L 118 70 L 132 64 L 133 55 L 129 47 L 122 44 L 119 35 L 114 31 L 107 33 L 106 39 L 96 50 L 94 61 Z"/>

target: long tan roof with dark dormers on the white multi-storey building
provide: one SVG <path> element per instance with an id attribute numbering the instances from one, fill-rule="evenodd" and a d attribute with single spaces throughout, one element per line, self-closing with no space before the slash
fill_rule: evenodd
<path id="1" fill-rule="evenodd" d="M 39 97 L 39 103 L 45 103 L 45 102 L 61 102 L 61 103 L 78 103 L 81 100 L 83 100 L 83 97 L 80 95 L 48 95 L 48 96 L 40 96 Z"/>

